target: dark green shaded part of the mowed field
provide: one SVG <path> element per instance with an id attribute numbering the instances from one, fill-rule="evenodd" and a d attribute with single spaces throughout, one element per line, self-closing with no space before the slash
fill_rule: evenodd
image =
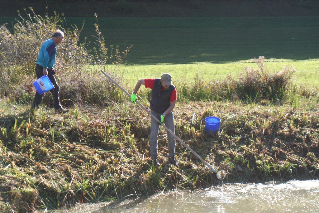
<path id="1" fill-rule="evenodd" d="M 2 17 L 9 23 L 16 17 Z M 94 42 L 95 18 L 65 18 L 81 26 L 81 41 Z M 128 64 L 226 63 L 266 59 L 319 58 L 319 16 L 211 18 L 98 18 L 106 45 L 133 45 Z M 11 28 L 12 29 L 12 28 Z"/>

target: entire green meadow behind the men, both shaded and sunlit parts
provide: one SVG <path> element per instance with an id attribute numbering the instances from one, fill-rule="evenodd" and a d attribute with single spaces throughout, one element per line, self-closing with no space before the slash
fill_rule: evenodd
<path id="1" fill-rule="evenodd" d="M 1 17 L 12 25 L 16 17 Z M 19 18 L 18 18 L 19 19 Z M 94 24 L 99 24 L 106 46 L 133 45 L 120 70 L 129 84 L 169 72 L 175 80 L 205 80 L 236 75 L 251 58 L 264 56 L 267 68 L 296 69 L 293 79 L 307 87 L 319 83 L 319 16 L 317 17 L 206 17 L 206 18 L 70 18 L 63 27 L 76 25 L 94 47 Z M 71 26 L 72 25 L 72 26 Z"/>

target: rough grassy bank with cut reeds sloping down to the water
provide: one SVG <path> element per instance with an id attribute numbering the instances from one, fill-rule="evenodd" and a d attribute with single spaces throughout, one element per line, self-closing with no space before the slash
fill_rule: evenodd
<path id="1" fill-rule="evenodd" d="M 228 164 L 226 182 L 318 179 L 318 110 L 318 97 L 302 98 L 298 105 L 185 102 L 176 106 L 175 130 L 214 168 Z M 167 164 L 164 129 L 159 136 L 162 167 L 152 167 L 150 118 L 128 102 L 105 108 L 76 105 L 58 116 L 45 106 L 33 113 L 28 105 L 2 99 L 0 114 L 4 210 L 56 209 L 220 183 L 179 143 L 180 168 Z M 222 120 L 215 136 L 204 132 L 206 116 Z"/>

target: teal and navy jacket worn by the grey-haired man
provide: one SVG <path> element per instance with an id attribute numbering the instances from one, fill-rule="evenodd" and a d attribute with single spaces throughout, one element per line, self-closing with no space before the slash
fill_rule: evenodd
<path id="1" fill-rule="evenodd" d="M 44 68 L 54 69 L 56 62 L 56 44 L 52 39 L 43 42 L 38 54 L 37 64 Z"/>

